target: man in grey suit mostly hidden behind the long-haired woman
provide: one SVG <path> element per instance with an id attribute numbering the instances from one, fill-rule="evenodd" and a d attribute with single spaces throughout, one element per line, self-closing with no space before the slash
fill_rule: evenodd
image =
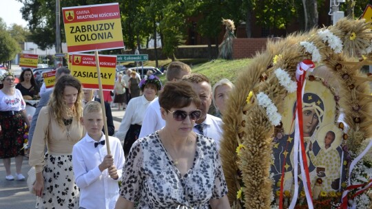
<path id="1" fill-rule="evenodd" d="M 70 74 L 70 69 L 67 69 L 65 67 L 59 67 L 56 70 L 56 81 L 61 78 L 63 75 Z M 55 82 L 56 82 L 55 81 Z M 28 131 L 28 150 L 30 151 L 31 148 L 31 142 L 32 137 L 34 136 L 35 126 L 37 124 L 37 118 L 39 117 L 39 113 L 42 107 L 46 106 L 49 102 L 50 95 L 53 93 L 53 91 L 45 91 L 40 96 L 39 104 L 37 104 L 37 108 L 35 110 L 34 115 L 32 116 L 31 124 L 30 124 L 30 130 Z"/>

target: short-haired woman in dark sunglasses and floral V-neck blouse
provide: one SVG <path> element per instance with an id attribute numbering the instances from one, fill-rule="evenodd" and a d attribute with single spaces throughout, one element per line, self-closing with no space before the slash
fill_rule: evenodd
<path id="1" fill-rule="evenodd" d="M 230 208 L 216 143 L 194 133 L 200 99 L 187 81 L 159 96 L 163 129 L 134 142 L 116 208 Z"/>

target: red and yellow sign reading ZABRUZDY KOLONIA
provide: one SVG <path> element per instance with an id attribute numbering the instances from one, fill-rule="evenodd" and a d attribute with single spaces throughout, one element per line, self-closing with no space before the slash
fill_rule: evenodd
<path id="1" fill-rule="evenodd" d="M 62 8 L 68 52 L 124 47 L 118 3 Z"/>

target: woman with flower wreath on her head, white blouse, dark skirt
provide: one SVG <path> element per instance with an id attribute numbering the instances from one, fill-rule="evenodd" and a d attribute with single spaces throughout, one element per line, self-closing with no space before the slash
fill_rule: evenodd
<path id="1" fill-rule="evenodd" d="M 130 100 L 118 132 L 116 132 L 116 137 L 124 141 L 125 156 L 129 154 L 132 144 L 138 139 L 146 108 L 156 98 L 158 91 L 161 89 L 161 81 L 158 77 L 151 75 L 141 80 L 139 88 L 143 95 Z"/>

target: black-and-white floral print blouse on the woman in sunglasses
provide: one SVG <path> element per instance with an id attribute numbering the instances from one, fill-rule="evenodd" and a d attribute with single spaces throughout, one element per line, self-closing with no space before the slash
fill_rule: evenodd
<path id="1" fill-rule="evenodd" d="M 182 176 L 157 131 L 137 140 L 123 168 L 120 194 L 143 209 L 207 209 L 209 199 L 227 194 L 216 143 L 197 134 L 194 163 Z"/>

